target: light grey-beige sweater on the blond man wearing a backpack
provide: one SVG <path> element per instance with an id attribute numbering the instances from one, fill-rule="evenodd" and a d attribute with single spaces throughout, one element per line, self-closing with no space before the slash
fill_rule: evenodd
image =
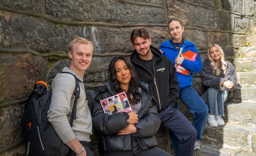
<path id="1" fill-rule="evenodd" d="M 64 67 L 62 71 L 76 75 L 83 82 L 83 76 L 70 68 Z M 70 142 L 74 138 L 79 141 L 91 141 L 92 117 L 88 100 L 86 100 L 84 84 L 80 82 L 80 98 L 77 102 L 76 120 L 74 120 L 72 127 L 69 123 L 75 98 L 73 95 L 75 84 L 74 76 L 68 73 L 58 73 L 52 81 L 52 99 L 47 117 L 64 143 Z"/>

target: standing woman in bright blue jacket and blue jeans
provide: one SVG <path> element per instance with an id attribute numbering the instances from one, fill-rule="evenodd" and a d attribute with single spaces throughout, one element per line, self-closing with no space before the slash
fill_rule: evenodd
<path id="1" fill-rule="evenodd" d="M 184 26 L 182 26 L 182 22 L 178 18 L 173 18 L 169 21 L 168 29 L 172 38 L 166 42 L 163 42 L 160 46 L 160 50 L 163 51 L 163 55 L 167 56 L 173 64 L 180 64 L 186 70 L 191 72 L 189 76 L 179 72 L 176 72 L 176 75 L 180 83 L 179 98 L 187 106 L 190 113 L 193 114 L 193 126 L 196 128 L 197 132 L 194 150 L 198 150 L 200 148 L 202 132 L 206 126 L 208 106 L 192 87 L 192 73 L 199 73 L 201 71 L 202 62 L 196 46 L 192 42 L 184 39 L 182 34 L 184 32 Z M 178 57 L 180 48 L 185 48 L 197 53 L 198 56 L 196 61 L 185 60 L 182 54 L 180 54 L 180 57 Z M 176 108 L 178 109 L 178 104 L 176 104 Z"/>

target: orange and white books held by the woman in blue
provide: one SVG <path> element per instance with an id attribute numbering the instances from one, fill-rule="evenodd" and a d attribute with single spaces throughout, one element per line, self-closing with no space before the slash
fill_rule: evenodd
<path id="1" fill-rule="evenodd" d="M 180 53 L 182 53 L 184 59 L 190 60 L 190 61 L 196 61 L 196 57 L 198 55 L 195 52 L 192 52 L 192 51 L 187 50 L 185 48 L 180 48 L 180 52 L 178 54 L 178 57 L 180 57 Z M 187 76 L 190 76 L 191 72 L 186 70 L 182 65 L 175 64 L 175 67 L 176 67 L 177 72 L 179 72 L 181 74 L 184 74 L 184 75 L 187 75 Z"/>

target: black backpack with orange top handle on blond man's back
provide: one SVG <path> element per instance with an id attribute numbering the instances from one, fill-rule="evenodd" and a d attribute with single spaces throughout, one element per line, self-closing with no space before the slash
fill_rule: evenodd
<path id="1" fill-rule="evenodd" d="M 71 74 L 70 72 L 61 73 Z M 73 93 L 76 98 L 69 121 L 71 127 L 73 120 L 76 120 L 76 105 L 80 94 L 78 81 L 82 82 L 74 74 L 72 75 L 76 80 L 76 87 Z M 39 83 L 44 85 L 37 87 Z M 26 156 L 66 156 L 69 152 L 68 146 L 60 140 L 47 118 L 51 96 L 52 92 L 48 91 L 47 84 L 43 81 L 38 81 L 34 84 L 34 90 L 25 104 L 22 128 L 27 151 Z"/>

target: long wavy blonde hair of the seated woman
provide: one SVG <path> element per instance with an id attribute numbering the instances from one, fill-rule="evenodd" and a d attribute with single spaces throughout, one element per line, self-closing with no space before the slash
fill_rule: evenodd
<path id="1" fill-rule="evenodd" d="M 220 64 L 218 64 L 218 62 L 214 61 L 212 59 L 212 57 L 210 56 L 210 48 L 212 48 L 212 47 L 216 47 L 218 49 L 218 51 L 220 52 L 220 54 L 221 54 Z M 210 66 L 212 67 L 212 71 L 213 71 L 213 73 L 216 72 L 216 76 L 219 76 L 220 72 L 221 72 L 220 69 L 218 69 L 219 65 L 220 65 L 220 68 L 223 70 L 224 75 L 226 74 L 226 68 L 227 68 L 228 65 L 227 65 L 227 63 L 225 62 L 225 59 L 224 59 L 224 52 L 223 52 L 222 48 L 218 44 L 212 44 L 208 48 L 208 58 L 211 61 Z"/>

